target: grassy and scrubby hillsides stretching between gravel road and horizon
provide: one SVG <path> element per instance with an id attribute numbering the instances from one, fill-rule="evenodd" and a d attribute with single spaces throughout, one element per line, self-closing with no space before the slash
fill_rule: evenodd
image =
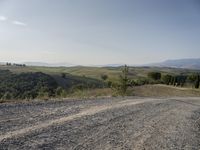
<path id="1" fill-rule="evenodd" d="M 158 86 L 145 84 L 164 83 L 151 79 L 150 72 L 163 75 L 188 76 L 199 73 L 197 70 L 157 68 L 157 67 L 129 67 L 128 79 L 132 91 L 130 95 L 137 96 L 168 96 L 168 95 L 199 95 L 199 90 L 193 90 L 189 81 L 184 84 L 190 89 L 173 86 Z M 122 67 L 34 67 L 34 66 L 0 66 L 0 98 L 1 99 L 32 99 L 37 97 L 87 97 L 116 95 L 115 87 L 122 74 Z M 103 81 L 102 75 L 108 79 Z M 111 86 L 109 86 L 111 81 Z M 180 86 L 175 81 L 174 86 Z M 145 85 L 145 86 L 141 86 Z M 172 85 L 172 84 L 171 84 Z M 111 87 L 111 88 L 108 88 Z M 114 90 L 114 91 L 113 91 Z M 132 94 L 131 94 L 132 93 Z"/>

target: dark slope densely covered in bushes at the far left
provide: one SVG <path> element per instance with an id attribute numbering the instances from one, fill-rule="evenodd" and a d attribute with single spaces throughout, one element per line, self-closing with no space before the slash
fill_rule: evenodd
<path id="1" fill-rule="evenodd" d="M 0 70 L 0 99 L 33 99 L 38 96 L 48 97 L 55 94 L 58 84 L 44 73 L 13 74 Z"/>

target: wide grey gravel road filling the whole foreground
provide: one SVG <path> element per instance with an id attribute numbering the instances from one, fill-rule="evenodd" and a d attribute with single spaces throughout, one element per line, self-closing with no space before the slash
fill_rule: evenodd
<path id="1" fill-rule="evenodd" d="M 0 104 L 0 149 L 200 150 L 200 98 Z"/>

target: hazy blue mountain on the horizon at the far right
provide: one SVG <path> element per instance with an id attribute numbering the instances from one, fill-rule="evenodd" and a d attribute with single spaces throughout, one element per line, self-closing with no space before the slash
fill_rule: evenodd
<path id="1" fill-rule="evenodd" d="M 200 58 L 166 60 L 166 61 L 163 61 L 160 63 L 147 64 L 145 66 L 185 68 L 185 69 L 200 70 Z"/>

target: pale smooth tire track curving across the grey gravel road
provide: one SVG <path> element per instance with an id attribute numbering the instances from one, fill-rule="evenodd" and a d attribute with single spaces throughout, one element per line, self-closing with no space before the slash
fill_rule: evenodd
<path id="1" fill-rule="evenodd" d="M 129 105 L 141 104 L 141 103 L 145 103 L 145 102 L 149 102 L 149 101 L 155 101 L 155 99 L 145 99 L 145 100 L 138 99 L 137 101 L 124 100 L 124 101 L 118 102 L 116 104 L 93 106 L 93 107 L 89 108 L 88 110 L 82 111 L 82 112 L 75 114 L 75 115 L 71 115 L 71 116 L 67 116 L 67 117 L 61 117 L 61 118 L 58 118 L 58 119 L 55 119 L 55 120 L 49 120 L 49 121 L 46 121 L 44 123 L 31 126 L 31 127 L 26 127 L 26 128 L 22 128 L 20 130 L 7 132 L 3 135 L 0 135 L 0 142 L 2 140 L 5 140 L 5 139 L 23 136 L 23 135 L 26 135 L 28 133 L 31 133 L 31 132 L 34 132 L 34 131 L 37 131 L 37 130 L 40 130 L 40 129 L 43 129 L 43 128 L 47 128 L 49 126 L 60 125 L 62 123 L 72 121 L 74 119 L 78 119 L 78 118 L 81 118 L 83 116 L 94 115 L 96 113 L 100 113 L 100 112 L 105 111 L 105 110 L 114 109 L 114 108 L 121 108 L 121 107 L 129 106 Z"/>

